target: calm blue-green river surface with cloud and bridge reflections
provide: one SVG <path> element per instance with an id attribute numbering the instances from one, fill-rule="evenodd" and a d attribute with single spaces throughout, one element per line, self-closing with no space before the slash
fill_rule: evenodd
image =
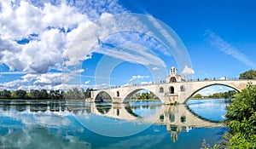
<path id="1" fill-rule="evenodd" d="M 200 148 L 227 131 L 219 121 L 227 100 L 95 104 L 1 101 L 0 148 Z"/>

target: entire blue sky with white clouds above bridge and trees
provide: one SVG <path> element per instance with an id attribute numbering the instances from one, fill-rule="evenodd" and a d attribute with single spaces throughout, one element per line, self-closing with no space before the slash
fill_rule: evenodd
<path id="1" fill-rule="evenodd" d="M 239 77 L 256 69 L 255 7 L 253 0 L 0 0 L 0 89 L 159 82 L 171 66 L 182 73 L 187 63 L 194 79 Z M 99 20 L 123 13 L 153 18 L 148 24 L 154 30 L 103 37 L 104 29 L 90 29 Z M 124 25 L 130 26 L 125 21 Z M 174 50 L 148 34 L 160 32 L 163 39 L 166 31 L 176 43 L 183 43 L 178 48 L 186 49 L 189 59 L 177 58 Z"/>

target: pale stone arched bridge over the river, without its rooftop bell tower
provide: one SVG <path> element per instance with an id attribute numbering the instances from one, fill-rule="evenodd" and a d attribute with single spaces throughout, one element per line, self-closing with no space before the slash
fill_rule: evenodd
<path id="1" fill-rule="evenodd" d="M 163 104 L 186 103 L 190 97 L 201 89 L 212 85 L 224 85 L 241 92 L 247 87 L 247 83 L 256 85 L 256 80 L 206 80 L 194 82 L 174 82 L 174 83 L 152 83 L 147 85 L 134 85 L 114 89 L 98 89 L 91 92 L 91 99 L 96 100 L 97 95 L 107 93 L 113 103 L 125 103 L 132 95 L 146 89 L 161 100 Z"/>

